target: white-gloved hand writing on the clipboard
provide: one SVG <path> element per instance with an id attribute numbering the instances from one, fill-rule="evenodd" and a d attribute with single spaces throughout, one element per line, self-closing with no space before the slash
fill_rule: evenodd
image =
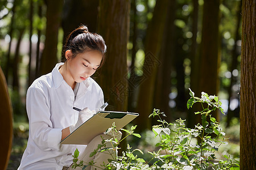
<path id="1" fill-rule="evenodd" d="M 69 131 L 72 133 L 74 130 L 79 128 L 82 124 L 84 124 L 85 121 L 87 121 L 89 118 L 93 116 L 93 114 L 96 114 L 96 111 L 91 111 L 89 108 L 84 108 L 82 111 L 79 112 L 79 118 L 75 124 L 75 126 L 71 125 L 69 126 Z"/>

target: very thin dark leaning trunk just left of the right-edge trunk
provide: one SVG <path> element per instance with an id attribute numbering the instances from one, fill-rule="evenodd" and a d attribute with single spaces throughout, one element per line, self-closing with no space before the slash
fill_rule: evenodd
<path id="1" fill-rule="evenodd" d="M 236 28 L 236 36 L 235 36 L 235 43 L 233 46 L 233 50 L 232 50 L 232 64 L 230 66 L 230 71 L 231 73 L 233 72 L 234 69 L 237 69 L 237 41 L 240 40 L 240 33 L 239 33 L 239 29 L 240 29 L 240 23 L 241 23 L 241 8 L 242 8 L 242 0 L 241 0 L 241 4 L 239 7 L 239 10 L 237 12 L 237 28 Z M 233 76 L 233 74 L 231 74 L 231 78 L 230 78 L 230 84 L 228 87 L 228 94 L 229 94 L 229 99 L 228 99 L 228 103 L 229 103 L 229 107 L 228 107 L 228 116 L 227 116 L 227 120 L 226 120 L 226 127 L 229 127 L 230 125 L 230 121 L 232 119 L 232 117 L 234 116 L 233 112 L 230 110 L 230 101 L 232 98 L 232 86 L 235 82 L 235 78 Z"/>

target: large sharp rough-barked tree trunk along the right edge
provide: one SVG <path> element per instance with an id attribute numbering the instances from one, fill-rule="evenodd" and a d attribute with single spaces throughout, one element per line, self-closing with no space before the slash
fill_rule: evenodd
<path id="1" fill-rule="evenodd" d="M 256 169 L 256 0 L 242 1 L 240 168 Z"/>

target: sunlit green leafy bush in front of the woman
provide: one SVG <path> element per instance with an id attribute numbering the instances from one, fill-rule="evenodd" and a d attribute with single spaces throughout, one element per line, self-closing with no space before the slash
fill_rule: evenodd
<path id="1" fill-rule="evenodd" d="M 185 120 L 178 119 L 174 124 L 162 120 L 160 115 L 166 117 L 159 109 L 154 109 L 149 117 L 158 117 L 159 125 L 152 126 L 152 131 L 155 137 L 160 138 L 160 142 L 156 143 L 158 151 L 148 151 L 147 154 L 151 155 L 151 160 L 146 162 L 142 158 L 138 158 L 137 154 L 144 153 L 135 148 L 131 149 L 127 145 L 127 151 L 122 152 L 122 156 L 114 155 L 109 164 L 97 167 L 100 169 L 240 169 L 239 162 L 232 160 L 229 156 L 224 155 L 224 160 L 216 158 L 218 148 L 224 144 L 228 145 L 225 133 L 216 121 L 211 116 L 211 112 L 221 108 L 221 102 L 217 96 L 209 96 L 205 92 L 201 93 L 201 97 L 195 97 L 195 94 L 189 89 L 191 98 L 187 102 L 187 108 L 191 108 L 194 103 L 201 103 L 202 111 L 195 114 L 201 114 L 202 124 L 195 125 L 195 128 L 190 129 L 185 127 Z M 204 105 L 207 104 L 207 107 Z M 129 135 L 141 137 L 141 135 L 134 133 L 136 126 L 131 126 L 130 130 L 121 129 L 126 131 L 127 138 Z M 115 129 L 115 126 L 112 126 Z M 123 138 L 123 139 L 125 139 Z M 123 140 L 122 139 L 122 140 Z M 122 141 L 121 140 L 121 141 Z M 107 141 L 107 140 L 106 140 Z M 113 148 L 105 148 L 105 140 L 102 139 L 101 145 L 94 150 L 91 156 L 105 150 L 117 150 L 119 142 L 115 139 L 110 139 L 114 143 Z M 108 142 L 109 142 L 108 141 Z M 197 142 L 195 142 L 197 141 Z M 103 147 L 103 148 L 102 148 Z M 93 163 L 85 163 L 79 161 L 77 158 L 79 151 L 76 150 L 73 155 L 72 168 L 81 167 L 86 168 L 87 165 Z"/>

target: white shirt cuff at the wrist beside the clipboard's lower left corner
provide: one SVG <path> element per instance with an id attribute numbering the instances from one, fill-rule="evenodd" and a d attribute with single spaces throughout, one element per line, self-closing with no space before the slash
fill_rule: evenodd
<path id="1" fill-rule="evenodd" d="M 62 129 L 51 129 L 48 133 L 48 147 L 52 150 L 60 150 Z"/>

